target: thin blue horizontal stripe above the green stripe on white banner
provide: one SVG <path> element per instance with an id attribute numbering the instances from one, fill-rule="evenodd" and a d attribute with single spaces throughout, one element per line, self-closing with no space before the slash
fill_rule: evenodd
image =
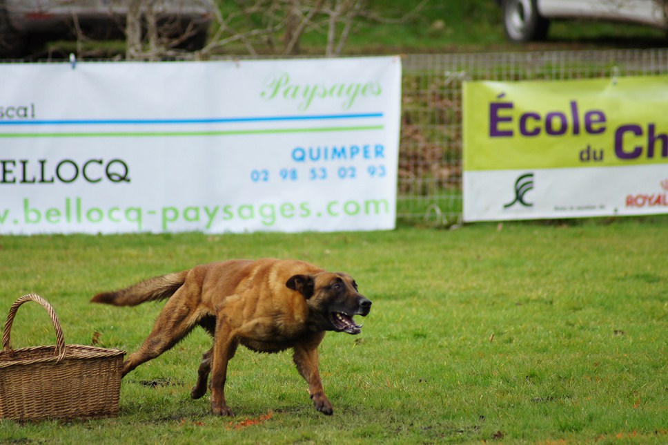
<path id="1" fill-rule="evenodd" d="M 73 120 L 0 120 L 0 125 L 151 125 L 151 124 L 226 124 L 238 122 L 281 122 L 297 120 L 366 119 L 383 113 L 324 114 L 305 116 L 210 117 L 201 119 L 73 119 Z"/>

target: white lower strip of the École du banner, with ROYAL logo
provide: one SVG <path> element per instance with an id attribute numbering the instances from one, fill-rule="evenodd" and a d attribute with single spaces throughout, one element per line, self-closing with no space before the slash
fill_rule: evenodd
<path id="1" fill-rule="evenodd" d="M 469 201 L 465 202 L 464 219 L 665 214 L 667 178 L 668 170 L 662 165 L 591 167 L 586 172 L 582 169 L 467 171 L 464 190 Z"/>

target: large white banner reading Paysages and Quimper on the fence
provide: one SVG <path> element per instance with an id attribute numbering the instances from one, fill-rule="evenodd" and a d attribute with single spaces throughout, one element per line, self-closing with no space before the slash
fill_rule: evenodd
<path id="1" fill-rule="evenodd" d="M 0 64 L 0 233 L 393 229 L 399 57 Z"/>

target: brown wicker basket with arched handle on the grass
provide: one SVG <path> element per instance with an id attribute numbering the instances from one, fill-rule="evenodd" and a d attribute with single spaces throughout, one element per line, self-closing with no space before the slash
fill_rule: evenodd
<path id="1" fill-rule="evenodd" d="M 10 331 L 19 306 L 35 301 L 49 313 L 55 346 L 13 350 Z M 81 419 L 115 415 L 124 351 L 66 345 L 51 305 L 35 294 L 14 302 L 7 316 L 0 352 L 0 418 Z"/>

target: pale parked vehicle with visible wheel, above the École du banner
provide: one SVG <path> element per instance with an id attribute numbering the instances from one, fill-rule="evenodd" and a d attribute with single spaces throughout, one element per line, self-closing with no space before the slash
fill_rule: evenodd
<path id="1" fill-rule="evenodd" d="M 665 0 L 496 0 L 506 37 L 527 42 L 547 36 L 552 19 L 596 19 L 640 23 L 668 30 Z"/>

